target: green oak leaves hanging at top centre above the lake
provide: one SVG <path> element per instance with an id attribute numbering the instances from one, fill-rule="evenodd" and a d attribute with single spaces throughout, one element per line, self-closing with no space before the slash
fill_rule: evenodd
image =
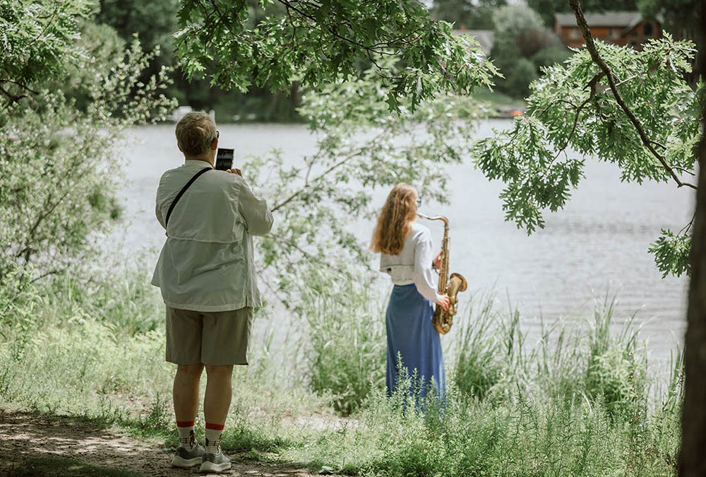
<path id="1" fill-rule="evenodd" d="M 277 3 L 285 16 L 252 25 L 244 0 L 185 0 L 175 37 L 186 73 L 208 74 L 214 84 L 241 91 L 288 90 L 295 80 L 316 89 L 357 78 L 361 61 L 394 55 L 404 66 L 379 71 L 393 108 L 400 98 L 411 98 L 414 107 L 439 90 L 460 93 L 489 83 L 492 71 L 479 47 L 455 37 L 417 1 L 262 2 Z"/>

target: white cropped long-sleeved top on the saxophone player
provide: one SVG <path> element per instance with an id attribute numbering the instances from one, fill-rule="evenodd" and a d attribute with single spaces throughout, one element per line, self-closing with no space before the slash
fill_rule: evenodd
<path id="1" fill-rule="evenodd" d="M 380 254 L 380 271 L 388 273 L 395 285 L 414 283 L 421 296 L 436 303 L 441 295 L 436 293 L 435 273 L 431 269 L 431 232 L 416 222 L 410 225 L 412 233 L 405 239 L 402 252 L 397 255 Z"/>

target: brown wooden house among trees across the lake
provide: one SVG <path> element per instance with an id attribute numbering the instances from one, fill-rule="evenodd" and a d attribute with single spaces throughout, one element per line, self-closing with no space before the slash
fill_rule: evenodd
<path id="1" fill-rule="evenodd" d="M 655 18 L 643 17 L 639 11 L 606 11 L 585 13 L 585 16 L 594 38 L 615 45 L 642 49 L 647 40 L 662 35 L 662 23 Z M 573 13 L 554 15 L 554 33 L 569 47 L 580 47 L 584 43 Z"/>

